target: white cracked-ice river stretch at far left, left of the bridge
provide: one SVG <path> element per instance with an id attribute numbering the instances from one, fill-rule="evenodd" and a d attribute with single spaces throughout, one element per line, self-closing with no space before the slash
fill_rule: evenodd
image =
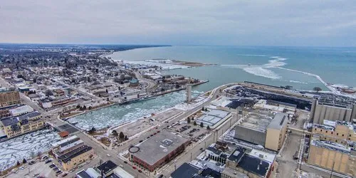
<path id="1" fill-rule="evenodd" d="M 38 152 L 47 152 L 53 142 L 60 140 L 57 132 L 38 130 L 5 142 L 0 142 L 0 171 L 7 169 L 23 158 L 31 159 Z"/>

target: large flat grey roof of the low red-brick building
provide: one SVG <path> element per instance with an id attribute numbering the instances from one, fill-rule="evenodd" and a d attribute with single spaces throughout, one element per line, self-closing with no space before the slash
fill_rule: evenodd
<path id="1" fill-rule="evenodd" d="M 138 159 L 153 165 L 159 159 L 162 159 L 173 150 L 182 146 L 188 140 L 180 135 L 162 131 L 140 143 L 137 147 L 140 148 L 138 152 L 132 153 Z"/>

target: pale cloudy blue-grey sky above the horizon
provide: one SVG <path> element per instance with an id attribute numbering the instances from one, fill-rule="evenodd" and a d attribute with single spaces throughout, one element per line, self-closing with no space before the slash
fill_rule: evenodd
<path id="1" fill-rule="evenodd" d="M 0 43 L 356 46 L 356 1 L 1 0 Z"/>

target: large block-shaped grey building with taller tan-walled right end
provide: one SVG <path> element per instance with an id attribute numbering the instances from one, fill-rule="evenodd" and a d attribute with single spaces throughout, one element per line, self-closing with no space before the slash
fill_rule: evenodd
<path id="1" fill-rule="evenodd" d="M 249 112 L 236 125 L 235 138 L 278 151 L 285 139 L 287 122 L 286 113 L 278 112 L 268 116 Z"/>

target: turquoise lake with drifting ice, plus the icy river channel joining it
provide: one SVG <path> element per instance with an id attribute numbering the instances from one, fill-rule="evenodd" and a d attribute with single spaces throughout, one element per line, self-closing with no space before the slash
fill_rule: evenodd
<path id="1" fill-rule="evenodd" d="M 328 90 L 320 80 L 308 73 L 319 75 L 327 83 L 356 86 L 356 48 L 170 46 L 120 51 L 110 57 L 123 61 L 166 58 L 216 64 L 162 72 L 209 80 L 209 83 L 194 87 L 194 95 L 222 84 L 245 80 L 277 86 L 292 85 L 302 90 L 312 90 L 315 86 Z M 184 100 L 185 92 L 180 91 L 140 103 L 95 110 L 71 118 L 70 122 L 78 122 L 77 126 L 83 130 L 91 127 L 100 129 L 135 120 Z"/>

